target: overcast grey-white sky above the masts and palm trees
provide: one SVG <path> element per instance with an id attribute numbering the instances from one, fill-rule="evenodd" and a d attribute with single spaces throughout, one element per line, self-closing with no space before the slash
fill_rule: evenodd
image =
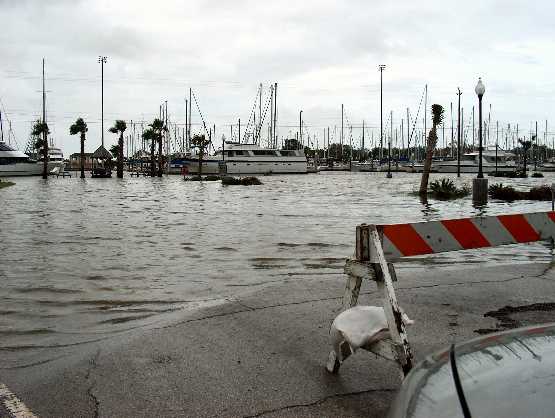
<path id="1" fill-rule="evenodd" d="M 407 107 L 414 119 L 427 84 L 428 106 L 446 108 L 449 137 L 457 87 L 467 124 L 481 76 L 491 126 L 518 123 L 528 135 L 537 120 L 543 138 L 546 119 L 555 125 L 554 12 L 554 2 L 540 0 L 0 0 L 4 132 L 9 120 L 24 148 L 41 112 L 44 57 L 56 144 L 66 156 L 78 151 L 68 130 L 81 116 L 89 125 L 87 150 L 94 150 L 101 136 L 97 61 L 105 55 L 106 129 L 115 119 L 149 122 L 165 100 L 170 119 L 184 123 L 191 87 L 217 138 L 229 136 L 231 124 L 249 118 L 259 83 L 265 101 L 277 82 L 280 137 L 295 135 L 303 110 L 306 133 L 321 144 L 330 127 L 333 141 L 343 103 L 356 142 L 363 119 L 368 135 L 379 133 L 377 67 L 386 64 L 388 126 L 390 111 L 395 128 Z M 200 131 L 193 110 L 193 131 Z M 421 117 L 422 110 L 418 126 Z M 105 135 L 107 145 L 115 143 L 115 135 Z"/>

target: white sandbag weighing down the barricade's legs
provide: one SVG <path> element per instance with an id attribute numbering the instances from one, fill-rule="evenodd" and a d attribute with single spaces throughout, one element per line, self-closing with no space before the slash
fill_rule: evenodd
<path id="1" fill-rule="evenodd" d="M 414 323 L 404 312 L 401 313 L 405 325 Z M 389 328 L 381 306 L 355 306 L 341 312 L 331 324 L 330 341 L 340 360 L 343 360 L 340 350 L 343 341 L 347 341 L 355 352 L 384 338 L 389 338 Z"/>

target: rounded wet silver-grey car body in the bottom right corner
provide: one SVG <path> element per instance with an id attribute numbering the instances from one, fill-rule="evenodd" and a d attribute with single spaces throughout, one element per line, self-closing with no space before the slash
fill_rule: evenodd
<path id="1" fill-rule="evenodd" d="M 555 415 L 555 323 L 475 338 L 455 352 L 473 417 Z M 463 417 L 448 349 L 409 373 L 390 417 Z"/>

